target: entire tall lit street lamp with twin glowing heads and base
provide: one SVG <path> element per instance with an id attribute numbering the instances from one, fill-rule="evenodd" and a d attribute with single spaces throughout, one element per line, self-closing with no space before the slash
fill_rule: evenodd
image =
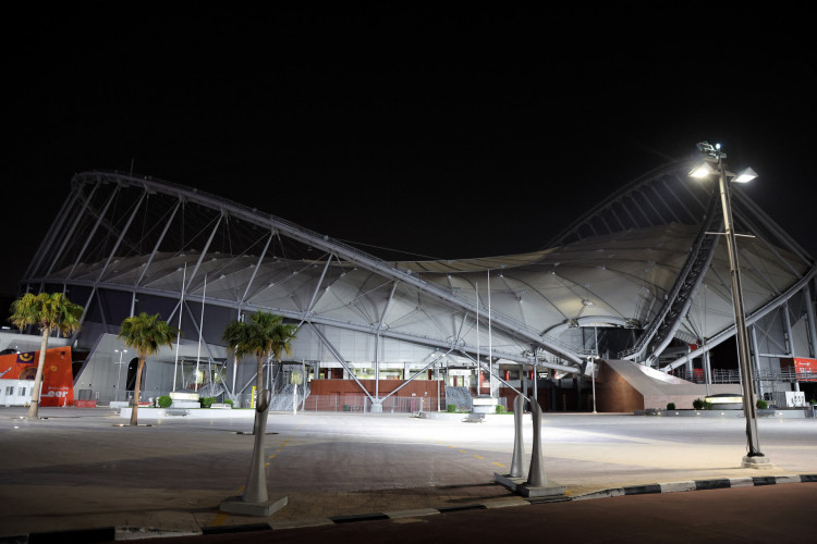
<path id="1" fill-rule="evenodd" d="M 705 178 L 717 174 L 720 182 L 723 227 L 727 235 L 727 249 L 729 250 L 729 270 L 732 275 L 732 302 L 734 305 L 735 332 L 737 335 L 737 362 L 741 369 L 741 386 L 743 387 L 743 413 L 746 417 L 746 438 L 748 442 L 748 453 L 743 457 L 742 466 L 748 468 L 771 468 L 769 459 L 760 453 L 760 446 L 757 442 L 757 412 L 755 411 L 755 392 L 752 387 L 746 312 L 743 308 L 743 288 L 741 286 L 740 265 L 737 263 L 732 205 L 729 198 L 730 181 L 746 183 L 757 177 L 757 173 L 752 169 L 746 169 L 737 174 L 728 172 L 727 165 L 723 162 L 727 153 L 721 151 L 720 144 L 712 147 L 710 144 L 702 141 L 698 144 L 698 150 L 704 157 L 704 162 L 694 168 L 690 172 L 690 176 Z"/>

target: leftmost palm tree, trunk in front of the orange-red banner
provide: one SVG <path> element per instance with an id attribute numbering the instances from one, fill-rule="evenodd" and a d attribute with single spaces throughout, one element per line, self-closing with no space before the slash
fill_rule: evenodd
<path id="1" fill-rule="evenodd" d="M 38 295 L 26 293 L 11 304 L 10 323 L 21 331 L 27 326 L 37 325 L 42 333 L 37 374 L 34 378 L 32 391 L 32 404 L 28 406 L 29 419 L 39 417 L 39 390 L 42 386 L 42 367 L 46 363 L 48 337 L 52 331 L 59 331 L 66 337 L 78 331 L 82 326 L 80 320 L 83 311 L 82 306 L 73 304 L 62 293 L 40 293 Z"/>

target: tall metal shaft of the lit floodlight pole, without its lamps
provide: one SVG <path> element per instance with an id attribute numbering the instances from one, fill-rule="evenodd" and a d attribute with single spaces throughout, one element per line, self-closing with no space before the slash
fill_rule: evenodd
<path id="1" fill-rule="evenodd" d="M 737 262 L 737 247 L 735 245 L 734 223 L 732 221 L 732 205 L 729 197 L 729 180 L 727 168 L 720 152 L 718 158 L 718 178 L 720 182 L 720 197 L 723 206 L 723 227 L 727 234 L 729 250 L 729 270 L 732 275 L 732 302 L 734 305 L 735 331 L 737 334 L 737 359 L 741 368 L 741 385 L 743 387 L 743 413 L 746 417 L 746 438 L 748 454 L 746 457 L 765 457 L 760 453 L 757 441 L 757 412 L 755 411 L 755 392 L 752 387 L 752 367 L 749 364 L 748 334 L 746 332 L 746 313 L 743 307 L 743 287 L 741 286 L 740 265 Z M 744 458 L 744 461 L 746 458 Z"/>

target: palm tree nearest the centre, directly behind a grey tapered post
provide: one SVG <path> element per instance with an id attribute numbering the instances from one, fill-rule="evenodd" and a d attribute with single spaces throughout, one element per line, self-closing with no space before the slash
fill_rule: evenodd
<path id="1" fill-rule="evenodd" d="M 252 354 L 258 361 L 256 396 L 260 395 L 264 388 L 264 359 L 272 356 L 280 362 L 284 353 L 290 355 L 295 333 L 296 325 L 284 323 L 281 316 L 260 310 L 254 313 L 248 322 L 234 320 L 224 329 L 222 338 L 231 346 L 236 359 Z"/>

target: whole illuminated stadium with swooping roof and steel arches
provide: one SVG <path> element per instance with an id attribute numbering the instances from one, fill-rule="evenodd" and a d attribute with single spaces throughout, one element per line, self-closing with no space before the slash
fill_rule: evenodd
<path id="1" fill-rule="evenodd" d="M 468 409 L 520 392 L 546 410 L 684 404 L 740 393 L 721 196 L 687 175 L 696 160 L 607 195 L 538 251 L 437 261 L 385 260 L 171 182 L 83 172 L 20 292 L 84 307 L 82 330 L 49 346 L 71 347 L 74 396 L 97 405 L 132 396 L 135 354 L 117 334 L 145 311 L 182 336 L 147 360 L 141 400 L 194 392 L 248 406 L 255 360 L 221 338 L 259 310 L 298 326 L 292 351 L 265 367 L 273 409 Z M 732 210 L 755 393 L 813 398 L 814 259 L 737 185 Z M 3 330 L 0 348 L 34 351 L 37 331 Z M 632 369 L 693 388 L 648 397 Z"/>

